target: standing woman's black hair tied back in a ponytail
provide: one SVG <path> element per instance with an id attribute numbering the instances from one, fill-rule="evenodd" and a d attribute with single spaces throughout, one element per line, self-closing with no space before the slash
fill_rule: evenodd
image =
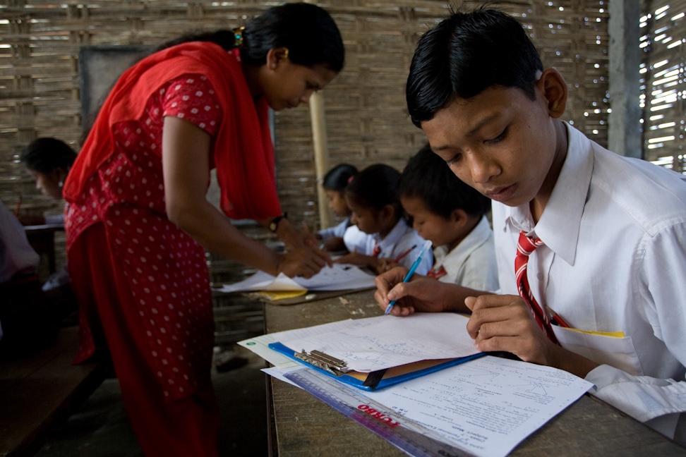
<path id="1" fill-rule="evenodd" d="M 236 47 L 234 30 L 200 32 L 164 42 L 153 51 L 190 41 L 207 41 L 224 49 Z M 241 32 L 241 59 L 251 66 L 267 63 L 272 48 L 288 48 L 291 62 L 303 66 L 323 65 L 340 73 L 345 61 L 343 39 L 333 18 L 313 4 L 291 3 L 274 6 L 248 20 Z"/>

